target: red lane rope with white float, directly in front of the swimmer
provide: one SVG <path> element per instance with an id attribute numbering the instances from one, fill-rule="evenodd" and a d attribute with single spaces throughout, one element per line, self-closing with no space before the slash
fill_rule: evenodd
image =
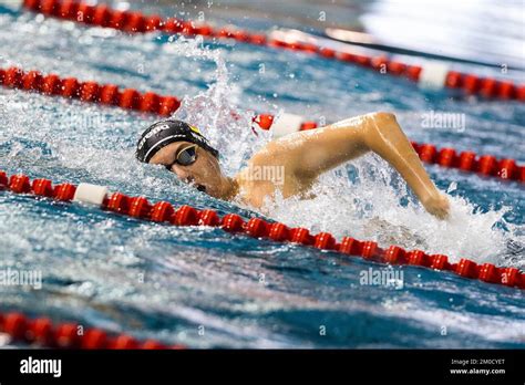
<path id="1" fill-rule="evenodd" d="M 80 201 L 95 205 L 104 210 L 137 219 L 174 226 L 212 226 L 233 233 L 244 233 L 254 238 L 270 239 L 277 242 L 295 242 L 321 250 L 338 251 L 347 256 L 360 256 L 366 260 L 390 263 L 412 264 L 434 270 L 450 271 L 463 278 L 525 289 L 525 273 L 516 268 L 498 268 L 492 263 L 477 264 L 469 259 L 450 263 L 444 254 L 428 254 L 421 250 L 404 250 L 398 246 L 381 249 L 377 242 L 360 241 L 344 237 L 340 242 L 329 232 L 310 235 L 305 228 L 289 228 L 284 223 L 269 223 L 259 218 L 245 221 L 236 214 L 220 218 L 214 210 L 197 210 L 191 206 L 174 208 L 167 201 L 151 204 L 145 197 L 128 197 L 121 192 L 110 194 L 104 186 L 90 184 L 53 185 L 49 179 L 34 179 L 25 175 L 8 175 L 0 171 L 0 189 L 17 194 L 30 194 L 61 201 Z"/>

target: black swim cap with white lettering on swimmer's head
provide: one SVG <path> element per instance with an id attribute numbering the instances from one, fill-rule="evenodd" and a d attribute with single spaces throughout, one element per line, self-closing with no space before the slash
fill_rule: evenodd
<path id="1" fill-rule="evenodd" d="M 161 121 L 151 125 L 136 144 L 135 156 L 138 160 L 148 163 L 161 148 L 175 142 L 194 143 L 218 158 L 218 150 L 209 145 L 208 139 L 197 127 L 175 119 Z"/>

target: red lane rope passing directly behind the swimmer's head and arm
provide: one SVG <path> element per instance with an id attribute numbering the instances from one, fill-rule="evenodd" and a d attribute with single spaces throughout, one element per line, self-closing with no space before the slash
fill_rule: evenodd
<path id="1" fill-rule="evenodd" d="M 134 89 L 120 90 L 114 84 L 81 82 L 75 77 L 59 77 L 55 74 L 42 75 L 39 71 L 24 72 L 18 67 L 0 69 L 0 85 L 163 116 L 172 115 L 181 105 L 181 100 L 175 96 L 141 93 Z M 276 137 L 318 127 L 313 121 L 288 113 L 278 118 L 260 114 L 254 117 L 254 122 L 262 129 L 271 128 Z M 437 148 L 426 143 L 412 142 L 412 145 L 425 163 L 525 183 L 525 166 L 518 165 L 514 159 L 498 159 L 493 155 L 476 155 L 470 150 L 457 152 L 450 147 Z"/>

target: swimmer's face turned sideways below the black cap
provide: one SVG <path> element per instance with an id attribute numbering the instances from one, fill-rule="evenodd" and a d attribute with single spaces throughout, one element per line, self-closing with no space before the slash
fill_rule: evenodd
<path id="1" fill-rule="evenodd" d="M 166 166 L 182 181 L 195 186 L 198 190 L 213 197 L 220 197 L 224 176 L 215 156 L 197 146 L 194 163 L 183 166 L 176 162 L 179 153 L 191 146 L 194 146 L 194 144 L 189 142 L 172 143 L 161 148 L 151 158 L 150 163 Z"/>

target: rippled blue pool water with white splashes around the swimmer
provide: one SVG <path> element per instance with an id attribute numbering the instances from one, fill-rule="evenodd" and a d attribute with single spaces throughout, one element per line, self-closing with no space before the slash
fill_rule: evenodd
<path id="1" fill-rule="evenodd" d="M 257 27 L 268 30 L 272 23 L 257 20 Z M 268 141 L 264 133 L 251 134 L 248 113 L 239 121 L 229 114 L 249 110 L 285 108 L 327 122 L 391 111 L 413 141 L 525 162 L 523 104 L 422 92 L 408 81 L 334 61 L 223 41 L 203 46 L 165 35 L 130 37 L 3 8 L 0 42 L 2 67 L 186 96 L 179 116 L 206 132 L 228 173 Z M 465 125 L 424 127 L 431 111 L 463 114 Z M 106 185 L 219 214 L 258 215 L 138 164 L 134 145 L 151 121 L 0 89 L 0 169 Z M 321 178 L 313 200 L 278 200 L 267 218 L 338 238 L 442 252 L 452 261 L 466 257 L 523 269 L 523 186 L 436 166 L 428 170 L 451 196 L 447 222 L 425 214 L 373 156 Z M 193 347 L 525 347 L 523 292 L 451 273 L 395 267 L 402 288 L 367 285 L 363 272 L 384 266 L 10 192 L 0 194 L 0 270 L 39 271 L 43 278 L 40 290 L 0 285 L 0 311 Z"/>

